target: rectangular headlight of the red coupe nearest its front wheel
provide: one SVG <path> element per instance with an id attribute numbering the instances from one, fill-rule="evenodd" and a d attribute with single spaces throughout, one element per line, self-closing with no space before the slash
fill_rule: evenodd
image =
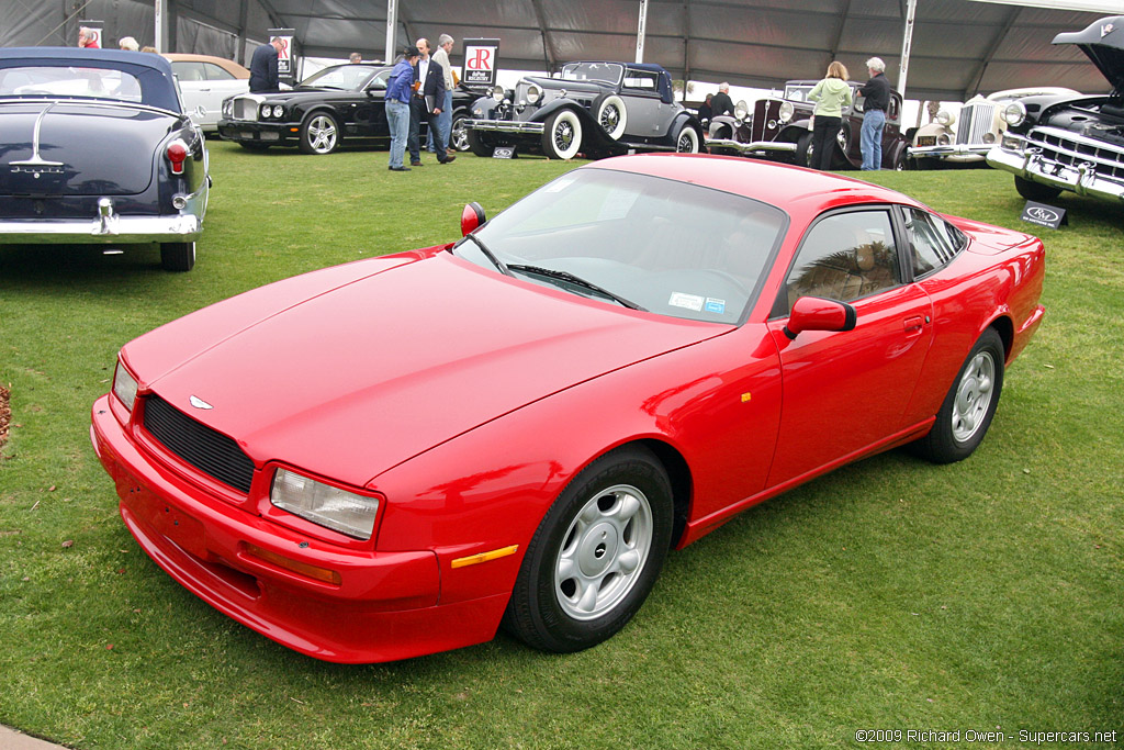
<path id="1" fill-rule="evenodd" d="M 355 539 L 371 539 L 379 500 L 316 481 L 296 471 L 278 469 L 270 488 L 270 503 Z"/>

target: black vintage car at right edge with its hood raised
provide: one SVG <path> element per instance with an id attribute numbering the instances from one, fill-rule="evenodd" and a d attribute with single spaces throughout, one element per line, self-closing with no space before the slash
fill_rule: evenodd
<path id="1" fill-rule="evenodd" d="M 1007 106 L 1008 128 L 987 162 L 1015 173 L 1027 200 L 1051 200 L 1062 190 L 1124 198 L 1124 16 L 1104 18 L 1084 31 L 1059 34 L 1076 44 L 1112 83 L 1106 96 L 1030 97 Z"/>

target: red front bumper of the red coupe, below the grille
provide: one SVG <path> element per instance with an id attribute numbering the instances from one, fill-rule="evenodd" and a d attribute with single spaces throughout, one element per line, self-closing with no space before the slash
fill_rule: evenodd
<path id="1" fill-rule="evenodd" d="M 216 609 L 294 651 L 346 663 L 406 659 L 490 640 L 508 595 L 439 605 L 432 550 L 345 549 L 209 495 L 138 450 L 111 396 L 90 439 L 142 549 Z M 282 568 L 254 548 L 339 573 L 332 584 Z"/>

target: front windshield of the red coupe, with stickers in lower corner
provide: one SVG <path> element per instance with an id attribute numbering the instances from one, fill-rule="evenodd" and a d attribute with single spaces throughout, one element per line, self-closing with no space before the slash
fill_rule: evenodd
<path id="1" fill-rule="evenodd" d="M 454 252 L 606 304 L 737 324 L 787 224 L 779 208 L 750 198 L 583 169 L 515 204 Z"/>

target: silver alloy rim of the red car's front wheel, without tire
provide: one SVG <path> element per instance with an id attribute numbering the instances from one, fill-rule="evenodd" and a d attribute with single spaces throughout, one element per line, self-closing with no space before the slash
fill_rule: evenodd
<path id="1" fill-rule="evenodd" d="M 647 497 L 632 485 L 595 495 L 574 517 L 554 561 L 554 594 L 574 620 L 605 615 L 644 570 L 654 533 Z"/>

